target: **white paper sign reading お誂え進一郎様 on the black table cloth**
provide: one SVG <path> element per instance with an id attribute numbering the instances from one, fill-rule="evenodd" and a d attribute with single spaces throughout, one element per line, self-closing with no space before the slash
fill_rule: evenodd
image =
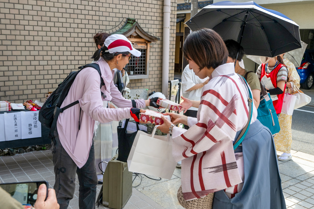
<path id="1" fill-rule="evenodd" d="M 5 140 L 21 139 L 21 112 L 4 113 Z"/>

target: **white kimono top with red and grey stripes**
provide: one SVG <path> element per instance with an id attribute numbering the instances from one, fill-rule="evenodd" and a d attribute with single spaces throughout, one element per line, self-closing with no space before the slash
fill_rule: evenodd
<path id="1" fill-rule="evenodd" d="M 176 161 L 182 160 L 185 200 L 242 182 L 232 141 L 248 120 L 247 98 L 234 64 L 221 65 L 203 87 L 197 119 L 188 118 L 188 130 L 174 127 L 172 152 Z M 251 123 L 257 119 L 257 110 L 252 107 Z"/>

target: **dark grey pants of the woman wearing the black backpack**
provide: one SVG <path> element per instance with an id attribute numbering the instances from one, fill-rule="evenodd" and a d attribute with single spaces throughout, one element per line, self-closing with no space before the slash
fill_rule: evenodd
<path id="1" fill-rule="evenodd" d="M 95 169 L 94 142 L 90 148 L 87 162 L 79 169 L 62 147 L 58 132 L 54 131 L 53 136 L 51 141 L 52 162 L 56 179 L 53 188 L 56 190 L 60 209 L 67 209 L 69 201 L 73 198 L 75 191 L 75 173 L 78 174 L 79 182 L 79 208 L 95 209 L 98 179 Z"/>

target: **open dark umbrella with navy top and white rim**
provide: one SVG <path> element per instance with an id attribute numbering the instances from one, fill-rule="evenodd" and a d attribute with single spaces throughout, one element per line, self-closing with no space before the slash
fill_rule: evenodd
<path id="1" fill-rule="evenodd" d="M 274 57 L 301 48 L 299 25 L 255 2 L 218 2 L 204 7 L 185 24 L 209 28 L 224 40 L 236 40 L 246 55 Z"/>

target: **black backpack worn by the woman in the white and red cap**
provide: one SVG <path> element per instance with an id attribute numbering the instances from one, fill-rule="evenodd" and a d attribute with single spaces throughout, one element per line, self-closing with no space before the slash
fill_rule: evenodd
<path id="1" fill-rule="evenodd" d="M 103 85 L 105 85 L 104 80 L 101 78 L 99 65 L 96 63 L 91 63 L 91 64 L 84 65 L 82 67 L 78 67 L 79 69 L 78 71 L 70 72 L 68 77 L 65 78 L 64 81 L 58 85 L 58 88 L 50 94 L 50 96 L 46 99 L 44 105 L 39 110 L 38 120 L 41 122 L 41 125 L 47 128 L 50 128 L 50 133 L 49 133 L 48 138 L 51 139 L 53 137 L 53 131 L 55 130 L 57 126 L 57 120 L 58 120 L 59 114 L 62 113 L 64 110 L 68 109 L 69 107 L 72 107 L 73 105 L 78 104 L 78 100 L 77 100 L 63 108 L 60 108 L 60 106 L 62 105 L 62 102 L 64 101 L 64 99 L 69 93 L 69 90 L 72 86 L 74 79 L 76 78 L 78 73 L 81 72 L 86 67 L 92 67 L 98 71 L 100 75 L 100 88 Z M 101 96 L 105 98 L 106 96 L 104 96 L 103 94 L 104 93 L 101 92 Z M 80 109 L 79 120 L 81 118 L 81 110 L 82 109 Z M 78 129 L 80 129 L 80 121 L 78 121 Z"/>

